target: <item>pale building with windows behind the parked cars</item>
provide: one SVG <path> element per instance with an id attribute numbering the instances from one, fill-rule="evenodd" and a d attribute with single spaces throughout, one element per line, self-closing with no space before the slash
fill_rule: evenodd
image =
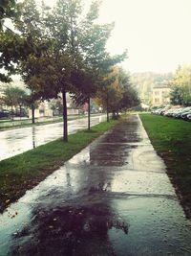
<path id="1" fill-rule="evenodd" d="M 153 87 L 153 105 L 170 104 L 171 82 L 160 82 Z"/>

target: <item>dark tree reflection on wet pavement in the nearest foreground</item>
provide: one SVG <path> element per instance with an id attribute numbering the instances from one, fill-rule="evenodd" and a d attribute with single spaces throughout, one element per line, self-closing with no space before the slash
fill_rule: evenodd
<path id="1" fill-rule="evenodd" d="M 36 209 L 31 227 L 14 235 L 11 255 L 115 255 L 108 231 L 129 226 L 105 203 Z M 91 253 L 90 253 L 91 250 Z"/>

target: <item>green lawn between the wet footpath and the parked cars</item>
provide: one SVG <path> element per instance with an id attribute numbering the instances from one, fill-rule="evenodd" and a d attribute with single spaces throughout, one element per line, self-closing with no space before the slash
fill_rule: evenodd
<path id="1" fill-rule="evenodd" d="M 191 218 L 191 123 L 151 114 L 139 116 Z"/>

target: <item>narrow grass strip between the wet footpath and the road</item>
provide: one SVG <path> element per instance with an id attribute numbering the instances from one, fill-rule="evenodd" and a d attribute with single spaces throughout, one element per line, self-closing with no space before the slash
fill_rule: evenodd
<path id="1" fill-rule="evenodd" d="M 53 173 L 81 151 L 96 137 L 113 128 L 119 121 L 111 120 L 96 125 L 91 131 L 81 130 L 69 135 L 69 142 L 62 139 L 42 145 L 32 151 L 0 162 L 0 211 L 11 202 L 22 197 L 28 189 L 32 189 L 47 175 Z"/>

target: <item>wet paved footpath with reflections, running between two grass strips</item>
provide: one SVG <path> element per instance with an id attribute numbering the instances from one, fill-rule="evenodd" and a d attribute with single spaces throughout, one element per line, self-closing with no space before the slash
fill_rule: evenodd
<path id="1" fill-rule="evenodd" d="M 0 255 L 191 255 L 191 225 L 138 116 L 0 216 Z"/>

